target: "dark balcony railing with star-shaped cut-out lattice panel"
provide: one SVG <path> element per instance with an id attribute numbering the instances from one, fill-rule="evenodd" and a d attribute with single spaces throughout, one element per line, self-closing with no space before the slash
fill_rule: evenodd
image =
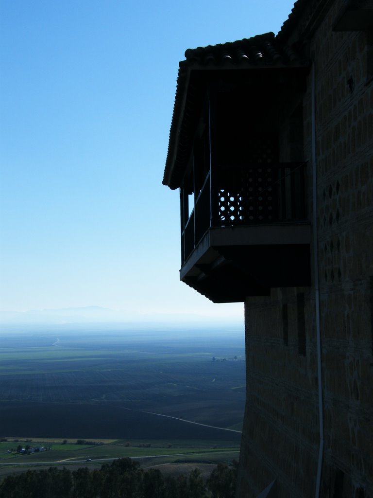
<path id="1" fill-rule="evenodd" d="M 220 165 L 209 172 L 182 227 L 182 264 L 209 228 L 304 221 L 305 166 Z"/>

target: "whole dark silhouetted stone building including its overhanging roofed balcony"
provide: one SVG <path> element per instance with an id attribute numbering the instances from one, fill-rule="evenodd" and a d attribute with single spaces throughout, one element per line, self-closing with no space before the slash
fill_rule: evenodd
<path id="1" fill-rule="evenodd" d="M 373 497 L 373 0 L 187 50 L 163 183 L 180 278 L 245 303 L 237 496 Z"/>

